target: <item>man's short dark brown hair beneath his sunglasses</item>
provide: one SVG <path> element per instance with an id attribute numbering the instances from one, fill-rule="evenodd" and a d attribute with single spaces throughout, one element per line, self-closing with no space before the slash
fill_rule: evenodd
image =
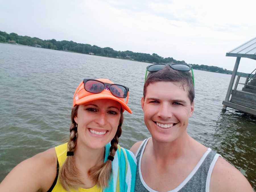
<path id="1" fill-rule="evenodd" d="M 146 89 L 149 84 L 159 81 L 181 82 L 183 90 L 188 91 L 188 97 L 191 104 L 195 98 L 195 88 L 193 85 L 192 75 L 189 71 L 178 71 L 172 69 L 169 65 L 166 65 L 164 69 L 150 72 L 144 83 L 143 97 L 146 97 Z"/>

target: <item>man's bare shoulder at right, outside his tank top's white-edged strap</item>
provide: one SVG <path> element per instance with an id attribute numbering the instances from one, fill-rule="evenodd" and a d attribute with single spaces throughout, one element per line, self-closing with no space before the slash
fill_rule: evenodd
<path id="1" fill-rule="evenodd" d="M 219 157 L 212 171 L 210 191 L 253 191 L 253 189 L 238 169 Z"/>

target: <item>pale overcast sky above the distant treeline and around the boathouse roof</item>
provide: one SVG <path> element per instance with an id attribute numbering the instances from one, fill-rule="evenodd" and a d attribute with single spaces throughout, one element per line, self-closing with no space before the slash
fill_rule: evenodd
<path id="1" fill-rule="evenodd" d="M 0 30 L 156 53 L 233 70 L 226 52 L 256 36 L 256 1 L 2 1 Z M 241 58 L 238 71 L 256 61 Z"/>

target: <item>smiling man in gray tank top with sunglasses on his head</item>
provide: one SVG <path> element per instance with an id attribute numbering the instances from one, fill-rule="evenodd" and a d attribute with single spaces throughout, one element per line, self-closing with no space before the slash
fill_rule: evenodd
<path id="1" fill-rule="evenodd" d="M 253 191 L 236 168 L 187 134 L 195 97 L 191 66 L 147 69 L 141 107 L 152 138 L 131 147 L 137 158 L 135 191 Z"/>

